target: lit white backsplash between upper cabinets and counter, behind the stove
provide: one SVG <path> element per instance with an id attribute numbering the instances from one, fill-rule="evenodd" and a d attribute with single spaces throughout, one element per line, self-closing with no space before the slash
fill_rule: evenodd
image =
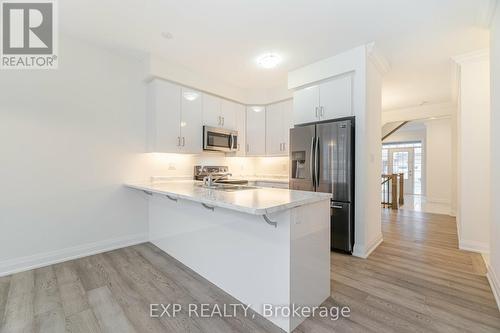
<path id="1" fill-rule="evenodd" d="M 219 153 L 144 154 L 150 176 L 193 177 L 195 165 L 227 165 L 233 177 L 287 177 L 288 157 L 226 157 Z"/>

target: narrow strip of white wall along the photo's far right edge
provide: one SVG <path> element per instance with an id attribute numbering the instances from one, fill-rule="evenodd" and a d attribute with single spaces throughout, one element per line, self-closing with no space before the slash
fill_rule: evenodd
<path id="1" fill-rule="evenodd" d="M 493 18 L 491 32 L 491 248 L 488 278 L 500 308 L 500 5 Z"/>

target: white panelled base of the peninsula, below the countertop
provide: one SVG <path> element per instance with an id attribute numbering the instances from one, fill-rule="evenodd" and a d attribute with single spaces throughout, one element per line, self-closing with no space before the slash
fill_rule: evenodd
<path id="1" fill-rule="evenodd" d="M 150 198 L 150 241 L 240 302 L 318 306 L 330 295 L 329 200 L 269 217 Z M 305 318 L 266 317 L 287 332 Z"/>

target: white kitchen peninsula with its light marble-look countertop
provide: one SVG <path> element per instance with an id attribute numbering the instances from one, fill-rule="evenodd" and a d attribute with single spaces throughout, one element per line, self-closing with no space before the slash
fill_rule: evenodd
<path id="1" fill-rule="evenodd" d="M 257 313 L 330 295 L 330 194 L 188 180 L 127 186 L 149 200 L 151 243 Z M 305 318 L 266 319 L 290 332 Z"/>

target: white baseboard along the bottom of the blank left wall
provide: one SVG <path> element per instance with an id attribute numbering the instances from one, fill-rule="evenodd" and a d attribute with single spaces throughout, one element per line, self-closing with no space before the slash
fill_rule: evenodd
<path id="1" fill-rule="evenodd" d="M 111 238 L 104 241 L 68 247 L 32 256 L 0 261 L 0 276 L 27 271 L 43 266 L 57 264 L 63 261 L 77 259 L 97 253 L 115 250 L 148 241 L 148 234 L 135 234 Z"/>

